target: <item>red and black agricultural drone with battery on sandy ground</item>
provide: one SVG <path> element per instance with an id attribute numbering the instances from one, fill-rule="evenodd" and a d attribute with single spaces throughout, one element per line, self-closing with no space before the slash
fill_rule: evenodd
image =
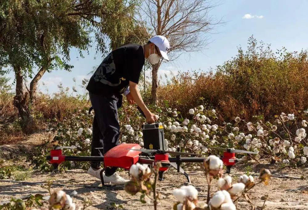
<path id="1" fill-rule="evenodd" d="M 147 164 L 154 166 L 156 162 L 160 162 L 162 167 L 159 169 L 159 180 L 164 180 L 163 173 L 170 167 L 176 168 L 178 173 L 182 173 L 188 183 L 191 183 L 189 175 L 180 166 L 185 162 L 203 162 L 206 157 L 196 157 L 201 154 L 166 151 L 164 145 L 164 127 L 162 123 L 144 124 L 142 126 L 144 149 L 139 144 L 120 144 L 108 150 L 104 156 L 65 156 L 62 149 L 71 149 L 72 147 L 60 146 L 51 150 L 47 160 L 53 165 L 54 171 L 59 171 L 59 164 L 64 161 L 100 161 L 104 162 L 104 168 L 100 171 L 100 178 L 104 186 L 103 171 L 107 167 L 118 167 L 129 170 L 133 164 Z M 231 167 L 238 162 L 235 153 L 257 154 L 255 152 L 245 150 L 233 150 L 218 147 L 208 147 L 211 149 L 225 150 L 221 160 L 226 166 L 226 173 L 230 173 Z M 101 149 L 101 148 L 96 148 Z M 172 157 L 175 156 L 175 157 Z M 182 157 L 191 156 L 191 157 Z"/>

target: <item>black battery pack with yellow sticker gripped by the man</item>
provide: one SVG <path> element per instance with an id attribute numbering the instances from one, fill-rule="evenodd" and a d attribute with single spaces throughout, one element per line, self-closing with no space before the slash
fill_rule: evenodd
<path id="1" fill-rule="evenodd" d="M 142 126 L 144 149 L 165 150 L 164 127 L 162 123 L 144 124 Z"/>

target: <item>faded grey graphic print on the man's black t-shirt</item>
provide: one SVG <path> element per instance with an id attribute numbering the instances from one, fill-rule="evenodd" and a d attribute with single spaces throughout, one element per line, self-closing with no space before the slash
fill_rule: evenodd
<path id="1" fill-rule="evenodd" d="M 94 73 L 94 80 L 96 82 L 100 81 L 103 84 L 107 84 L 109 86 L 118 86 L 121 83 L 119 80 L 118 83 L 112 83 L 111 75 L 115 72 L 115 64 L 113 62 L 112 52 L 103 60 L 103 62 L 99 65 Z"/>

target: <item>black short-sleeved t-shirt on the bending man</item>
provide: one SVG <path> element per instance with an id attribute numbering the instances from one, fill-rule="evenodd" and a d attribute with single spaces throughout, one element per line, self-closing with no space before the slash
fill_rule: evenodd
<path id="1" fill-rule="evenodd" d="M 94 94 L 122 94 L 129 81 L 138 84 L 144 65 L 141 45 L 129 44 L 113 50 L 91 77 L 87 90 Z"/>

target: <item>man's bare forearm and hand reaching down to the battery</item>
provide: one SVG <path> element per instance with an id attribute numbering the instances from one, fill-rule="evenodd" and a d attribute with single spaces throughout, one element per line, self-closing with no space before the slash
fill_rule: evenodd
<path id="1" fill-rule="evenodd" d="M 136 84 L 132 81 L 129 81 L 129 90 L 130 90 L 130 93 L 133 96 L 134 101 L 137 103 L 137 105 L 143 111 L 143 113 L 146 117 L 146 121 L 148 123 L 153 123 L 153 122 L 157 121 L 156 116 L 152 112 L 150 112 L 148 107 L 145 106 L 145 104 L 144 104 L 144 102 L 141 98 L 140 92 L 138 90 L 138 84 Z"/>

